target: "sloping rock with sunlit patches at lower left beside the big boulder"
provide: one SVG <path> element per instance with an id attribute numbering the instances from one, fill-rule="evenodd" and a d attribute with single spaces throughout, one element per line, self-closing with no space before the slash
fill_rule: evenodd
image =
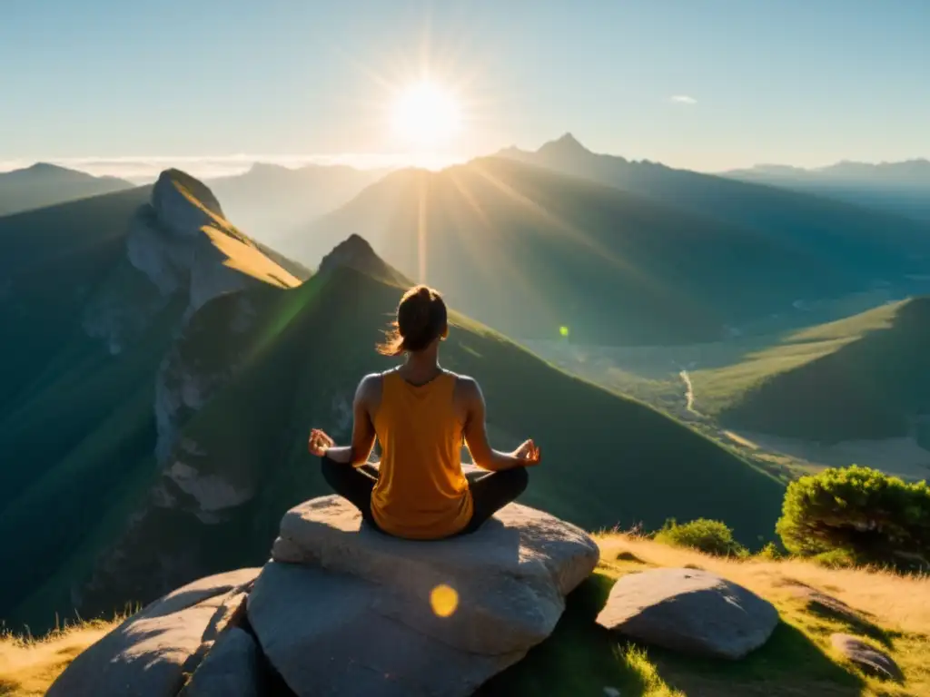
<path id="1" fill-rule="evenodd" d="M 258 573 L 258 569 L 220 573 L 155 600 L 78 655 L 46 694 L 177 694 L 184 674 L 193 672 L 208 650 L 205 641 L 212 642 L 229 625 Z"/>

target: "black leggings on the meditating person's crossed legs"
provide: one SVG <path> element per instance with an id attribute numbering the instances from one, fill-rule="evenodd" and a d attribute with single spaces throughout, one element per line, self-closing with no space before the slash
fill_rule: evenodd
<path id="1" fill-rule="evenodd" d="M 378 528 L 371 516 L 371 493 L 378 483 L 376 467 L 341 465 L 324 457 L 323 476 L 334 492 L 362 511 L 365 522 Z M 468 487 L 472 492 L 473 512 L 468 525 L 458 534 L 474 533 L 485 520 L 524 493 L 529 475 L 526 467 L 512 467 L 499 472 L 469 472 L 465 479 L 468 480 Z"/>

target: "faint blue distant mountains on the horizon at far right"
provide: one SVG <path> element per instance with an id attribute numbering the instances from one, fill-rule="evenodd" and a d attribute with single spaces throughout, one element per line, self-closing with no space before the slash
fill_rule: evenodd
<path id="1" fill-rule="evenodd" d="M 930 161 L 868 164 L 841 162 L 816 169 L 759 164 L 725 177 L 830 196 L 930 221 Z"/>

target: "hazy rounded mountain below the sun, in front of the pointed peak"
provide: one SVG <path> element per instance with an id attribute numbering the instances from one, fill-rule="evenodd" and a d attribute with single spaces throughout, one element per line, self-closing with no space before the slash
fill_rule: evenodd
<path id="1" fill-rule="evenodd" d="M 351 233 L 519 338 L 567 327 L 588 343 L 711 341 L 867 283 L 777 238 L 502 158 L 389 175 L 286 251 L 312 263 Z"/>

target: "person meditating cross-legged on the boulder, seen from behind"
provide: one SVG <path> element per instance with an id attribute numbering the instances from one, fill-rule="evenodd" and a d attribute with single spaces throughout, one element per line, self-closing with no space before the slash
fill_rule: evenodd
<path id="1" fill-rule="evenodd" d="M 323 458 L 326 481 L 382 533 L 416 540 L 472 533 L 524 492 L 526 467 L 539 464 L 533 441 L 512 453 L 492 450 L 478 383 L 439 365 L 448 333 L 443 297 L 425 285 L 408 290 L 378 347 L 406 360 L 362 378 L 352 406 L 352 445 L 337 446 L 319 428 L 310 434 L 310 452 Z M 376 437 L 379 469 L 367 464 Z M 467 476 L 463 441 L 481 468 Z"/>

